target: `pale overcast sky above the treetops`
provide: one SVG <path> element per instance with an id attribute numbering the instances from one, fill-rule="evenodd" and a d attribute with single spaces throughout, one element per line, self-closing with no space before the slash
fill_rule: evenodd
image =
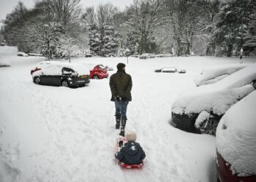
<path id="1" fill-rule="evenodd" d="M 0 20 L 4 20 L 6 15 L 12 12 L 12 9 L 16 7 L 19 0 L 0 0 Z M 20 0 L 27 8 L 34 7 L 34 0 Z M 80 4 L 83 7 L 90 7 L 94 5 L 96 7 L 98 4 L 105 4 L 107 2 L 112 3 L 114 6 L 124 9 L 132 3 L 132 0 L 80 0 Z"/>

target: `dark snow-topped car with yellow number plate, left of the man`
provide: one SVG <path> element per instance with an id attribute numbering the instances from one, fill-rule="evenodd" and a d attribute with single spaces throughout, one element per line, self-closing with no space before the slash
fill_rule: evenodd
<path id="1" fill-rule="evenodd" d="M 89 69 L 75 63 L 51 64 L 32 74 L 35 84 L 63 87 L 85 86 L 90 82 Z"/>

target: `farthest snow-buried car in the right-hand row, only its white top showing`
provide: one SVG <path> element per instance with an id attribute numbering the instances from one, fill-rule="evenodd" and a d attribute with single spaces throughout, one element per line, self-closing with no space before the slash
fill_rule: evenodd
<path id="1" fill-rule="evenodd" d="M 200 86 L 203 84 L 212 84 L 218 82 L 221 79 L 233 74 L 236 71 L 241 70 L 249 66 L 249 64 L 227 64 L 225 66 L 211 66 L 209 68 L 203 68 L 199 75 L 195 76 L 195 85 Z"/>

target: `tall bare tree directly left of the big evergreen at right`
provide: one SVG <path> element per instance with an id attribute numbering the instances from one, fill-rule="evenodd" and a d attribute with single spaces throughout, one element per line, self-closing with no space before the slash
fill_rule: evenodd
<path id="1" fill-rule="evenodd" d="M 198 28 L 204 16 L 203 9 L 192 0 L 168 0 L 166 4 L 169 34 L 176 47 L 176 55 L 190 55 L 193 39 L 200 32 Z"/>

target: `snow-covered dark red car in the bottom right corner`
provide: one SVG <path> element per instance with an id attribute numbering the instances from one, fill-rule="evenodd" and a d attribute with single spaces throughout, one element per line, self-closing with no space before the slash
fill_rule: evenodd
<path id="1" fill-rule="evenodd" d="M 222 182 L 256 181 L 256 91 L 232 106 L 217 127 L 217 174 Z"/>

